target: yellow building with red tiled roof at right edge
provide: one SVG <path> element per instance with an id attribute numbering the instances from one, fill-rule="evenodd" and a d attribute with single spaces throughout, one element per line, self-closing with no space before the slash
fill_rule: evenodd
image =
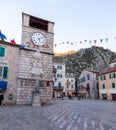
<path id="1" fill-rule="evenodd" d="M 116 60 L 99 72 L 100 99 L 116 101 Z"/>

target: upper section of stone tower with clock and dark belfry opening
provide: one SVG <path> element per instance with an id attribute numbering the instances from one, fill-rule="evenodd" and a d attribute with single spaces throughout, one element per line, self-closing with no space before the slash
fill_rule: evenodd
<path id="1" fill-rule="evenodd" d="M 22 13 L 22 45 L 53 53 L 54 22 Z"/>

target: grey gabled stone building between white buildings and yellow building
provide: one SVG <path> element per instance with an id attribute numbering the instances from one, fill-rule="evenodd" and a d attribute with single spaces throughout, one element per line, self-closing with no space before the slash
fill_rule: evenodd
<path id="1" fill-rule="evenodd" d="M 83 98 L 99 98 L 98 72 L 83 70 L 79 76 L 78 93 Z"/>

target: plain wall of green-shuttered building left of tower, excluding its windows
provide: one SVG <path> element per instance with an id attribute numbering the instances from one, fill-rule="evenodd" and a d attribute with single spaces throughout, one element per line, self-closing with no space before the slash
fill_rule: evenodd
<path id="1" fill-rule="evenodd" d="M 8 67 L 8 77 L 6 79 L 0 79 L 1 81 L 7 81 L 7 90 L 4 91 L 4 104 L 15 104 L 17 98 L 19 45 L 0 42 L 0 46 L 5 48 L 5 55 L 0 57 L 0 65 Z M 9 100 L 10 94 L 13 96 L 12 100 Z"/>

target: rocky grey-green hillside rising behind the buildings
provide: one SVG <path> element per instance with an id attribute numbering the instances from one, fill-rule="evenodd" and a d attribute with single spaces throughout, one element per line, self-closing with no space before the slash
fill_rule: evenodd
<path id="1" fill-rule="evenodd" d="M 114 59 L 116 59 L 116 53 L 103 47 L 92 46 L 91 48 L 80 49 L 75 54 L 54 56 L 53 61 L 65 62 L 66 72 L 73 72 L 78 78 L 84 69 L 100 71 Z"/>

